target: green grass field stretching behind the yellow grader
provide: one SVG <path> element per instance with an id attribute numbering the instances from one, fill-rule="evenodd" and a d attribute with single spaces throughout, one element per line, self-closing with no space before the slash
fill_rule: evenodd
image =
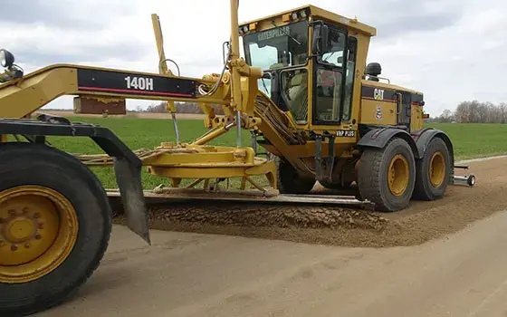
<path id="1" fill-rule="evenodd" d="M 152 149 L 160 142 L 174 142 L 174 130 L 170 120 L 130 119 L 130 118 L 69 118 L 73 121 L 86 121 L 110 128 L 130 149 Z M 454 142 L 456 159 L 473 159 L 507 153 L 507 125 L 500 124 L 457 124 L 440 123 L 427 125 L 444 130 Z M 191 141 L 202 135 L 206 129 L 202 120 L 179 120 L 178 127 L 182 141 Z M 50 142 L 58 149 L 70 153 L 95 154 L 101 149 L 88 138 L 51 138 Z M 235 145 L 235 130 L 215 139 L 213 145 Z M 250 133 L 243 131 L 243 144 L 250 144 Z M 104 187 L 117 187 L 111 168 L 92 168 Z M 165 179 L 143 173 L 146 188 L 158 186 Z"/>

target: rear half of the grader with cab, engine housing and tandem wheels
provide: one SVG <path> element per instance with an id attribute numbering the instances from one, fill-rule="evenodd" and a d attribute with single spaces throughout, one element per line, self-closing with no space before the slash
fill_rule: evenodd
<path id="1" fill-rule="evenodd" d="M 390 84 L 380 64 L 367 64 L 375 28 L 308 5 L 241 24 L 239 33 L 246 63 L 264 72 L 259 99 L 269 98 L 291 123 L 281 130 L 298 136 L 282 139 L 267 120 L 257 130 L 280 158 L 282 193 L 307 194 L 316 181 L 353 186 L 376 209 L 397 211 L 465 180 L 454 178 L 445 132 L 423 129 L 423 93 Z M 263 116 L 263 107 L 255 110 Z"/>

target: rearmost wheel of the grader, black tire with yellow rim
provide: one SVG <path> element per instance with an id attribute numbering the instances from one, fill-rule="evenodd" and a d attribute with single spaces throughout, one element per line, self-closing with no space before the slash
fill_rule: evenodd
<path id="1" fill-rule="evenodd" d="M 430 141 L 425 156 L 416 162 L 416 171 L 414 198 L 435 200 L 444 197 L 451 177 L 451 156 L 443 139 Z"/>

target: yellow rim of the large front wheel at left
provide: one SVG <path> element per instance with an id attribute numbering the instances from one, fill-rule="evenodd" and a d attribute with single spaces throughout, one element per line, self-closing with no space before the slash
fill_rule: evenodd
<path id="1" fill-rule="evenodd" d="M 78 218 L 71 202 L 47 187 L 0 192 L 0 283 L 26 283 L 53 272 L 71 254 Z"/>

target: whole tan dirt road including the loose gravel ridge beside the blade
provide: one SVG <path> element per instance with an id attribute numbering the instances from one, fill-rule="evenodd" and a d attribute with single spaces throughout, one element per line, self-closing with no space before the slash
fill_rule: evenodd
<path id="1" fill-rule="evenodd" d="M 507 159 L 470 165 L 476 187 L 388 215 L 156 210 L 152 226 L 221 235 L 155 231 L 148 247 L 115 226 L 89 283 L 38 316 L 506 316 Z"/>

